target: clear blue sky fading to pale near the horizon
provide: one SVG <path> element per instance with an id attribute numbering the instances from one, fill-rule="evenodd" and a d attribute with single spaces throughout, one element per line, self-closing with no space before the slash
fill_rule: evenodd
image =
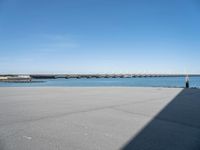
<path id="1" fill-rule="evenodd" d="M 200 73 L 199 0 L 0 0 L 0 73 Z"/>

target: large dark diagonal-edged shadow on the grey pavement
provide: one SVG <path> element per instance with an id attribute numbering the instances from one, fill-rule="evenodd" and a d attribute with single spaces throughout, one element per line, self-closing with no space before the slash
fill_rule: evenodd
<path id="1" fill-rule="evenodd" d="M 200 150 L 200 90 L 183 89 L 122 150 Z"/>

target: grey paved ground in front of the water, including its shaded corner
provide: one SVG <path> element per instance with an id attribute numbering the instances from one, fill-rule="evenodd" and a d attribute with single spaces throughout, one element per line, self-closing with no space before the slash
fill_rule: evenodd
<path id="1" fill-rule="evenodd" d="M 0 150 L 199 150 L 200 91 L 0 88 Z"/>

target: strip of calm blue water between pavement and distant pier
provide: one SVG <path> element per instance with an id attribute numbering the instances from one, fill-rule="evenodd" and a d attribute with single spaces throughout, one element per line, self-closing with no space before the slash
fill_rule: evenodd
<path id="1" fill-rule="evenodd" d="M 200 88 L 200 76 L 190 77 L 190 87 Z M 0 82 L 0 87 L 184 87 L 184 77 L 151 77 L 151 78 L 91 78 L 91 79 L 35 79 L 32 83 Z"/>

